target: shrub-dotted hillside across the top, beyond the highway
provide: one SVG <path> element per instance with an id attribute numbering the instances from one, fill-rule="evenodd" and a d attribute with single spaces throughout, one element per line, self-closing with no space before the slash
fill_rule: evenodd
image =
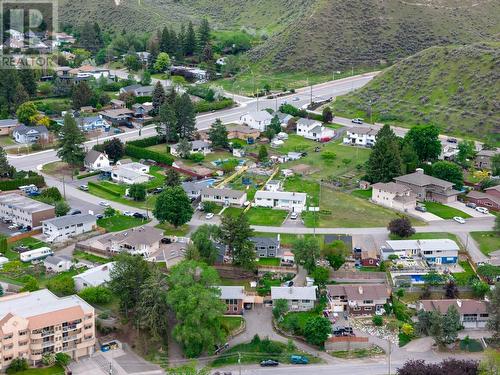
<path id="1" fill-rule="evenodd" d="M 260 36 L 249 57 L 281 71 L 326 72 L 394 62 L 427 47 L 500 34 L 495 0 L 59 0 L 60 20 L 152 31 L 198 24 Z"/>

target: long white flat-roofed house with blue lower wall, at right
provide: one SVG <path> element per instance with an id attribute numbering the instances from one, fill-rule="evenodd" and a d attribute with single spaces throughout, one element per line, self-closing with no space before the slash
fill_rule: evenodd
<path id="1" fill-rule="evenodd" d="M 458 261 L 457 243 L 453 240 L 394 240 L 386 241 L 381 249 L 383 260 L 389 259 L 391 255 L 420 256 L 429 264 L 456 264 Z"/>

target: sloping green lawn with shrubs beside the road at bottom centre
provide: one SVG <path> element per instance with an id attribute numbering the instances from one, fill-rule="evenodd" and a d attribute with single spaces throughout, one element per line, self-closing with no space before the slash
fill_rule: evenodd
<path id="1" fill-rule="evenodd" d="M 290 356 L 303 355 L 309 359 L 309 363 L 319 363 L 321 360 L 308 353 L 304 353 L 295 348 L 289 348 L 287 344 L 277 341 L 271 341 L 268 345 L 264 339 L 257 342 L 235 345 L 225 351 L 223 355 L 212 362 L 212 367 L 234 365 L 238 363 L 238 357 L 241 355 L 240 363 L 251 364 L 260 363 L 264 359 L 274 359 L 280 363 L 290 363 Z"/>

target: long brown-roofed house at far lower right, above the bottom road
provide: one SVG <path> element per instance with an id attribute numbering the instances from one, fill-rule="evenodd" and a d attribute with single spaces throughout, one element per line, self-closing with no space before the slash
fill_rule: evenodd
<path id="1" fill-rule="evenodd" d="M 419 310 L 439 311 L 446 314 L 451 306 L 455 306 L 460 315 L 460 323 L 467 329 L 484 329 L 490 319 L 485 301 L 475 299 L 431 299 L 418 303 Z"/>

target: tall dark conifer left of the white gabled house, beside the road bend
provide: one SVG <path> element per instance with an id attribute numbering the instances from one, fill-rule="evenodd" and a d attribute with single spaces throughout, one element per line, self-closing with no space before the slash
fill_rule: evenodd
<path id="1" fill-rule="evenodd" d="M 80 166 L 85 158 L 83 142 L 85 135 L 78 128 L 75 119 L 67 113 L 64 117 L 64 125 L 59 132 L 59 150 L 57 156 L 62 161 L 72 165 Z"/>

